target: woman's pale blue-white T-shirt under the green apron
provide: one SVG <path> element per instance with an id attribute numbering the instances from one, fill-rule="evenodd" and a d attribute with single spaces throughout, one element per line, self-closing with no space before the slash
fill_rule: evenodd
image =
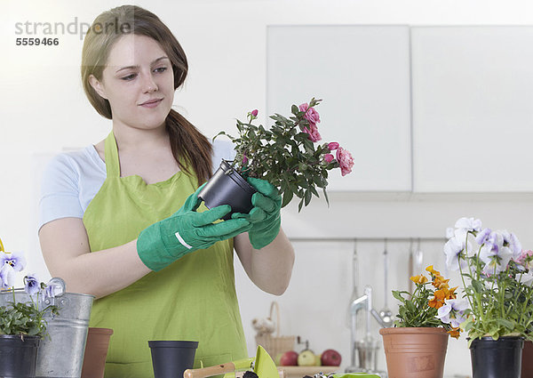
<path id="1" fill-rule="evenodd" d="M 213 142 L 213 173 L 221 159 L 233 160 L 229 141 Z M 106 181 L 106 163 L 94 146 L 63 152 L 52 158 L 43 173 L 38 229 L 60 218 L 83 218 L 87 206 Z"/>

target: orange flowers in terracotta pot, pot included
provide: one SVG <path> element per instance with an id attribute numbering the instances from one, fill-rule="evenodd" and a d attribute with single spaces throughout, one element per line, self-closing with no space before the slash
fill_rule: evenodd
<path id="1" fill-rule="evenodd" d="M 449 279 L 426 268 L 426 274 L 410 277 L 413 293 L 394 290 L 400 306 L 394 327 L 381 328 L 389 378 L 442 378 L 449 335 L 459 337 L 465 305 L 457 299 L 457 287 Z"/>

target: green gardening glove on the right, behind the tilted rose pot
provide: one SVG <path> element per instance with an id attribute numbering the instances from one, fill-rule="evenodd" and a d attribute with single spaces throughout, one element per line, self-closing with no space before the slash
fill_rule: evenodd
<path id="1" fill-rule="evenodd" d="M 251 197 L 253 207 L 248 215 L 235 213 L 232 217 L 251 222 L 251 229 L 248 231 L 251 246 L 261 249 L 272 243 L 280 232 L 282 196 L 268 181 L 249 177 L 248 182 L 258 191 Z"/>

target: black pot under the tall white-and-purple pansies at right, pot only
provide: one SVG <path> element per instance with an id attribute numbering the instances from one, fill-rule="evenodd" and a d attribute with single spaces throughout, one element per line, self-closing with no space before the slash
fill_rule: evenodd
<path id="1" fill-rule="evenodd" d="M 473 378 L 520 378 L 521 337 L 475 339 L 470 345 Z"/>

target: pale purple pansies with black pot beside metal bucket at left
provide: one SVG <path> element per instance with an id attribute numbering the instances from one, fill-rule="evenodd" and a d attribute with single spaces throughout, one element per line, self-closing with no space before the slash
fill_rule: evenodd
<path id="1" fill-rule="evenodd" d="M 5 252 L 0 240 L 0 286 L 12 295 L 12 302 L 0 306 L 0 376 L 5 377 L 36 376 L 37 350 L 46 335 L 44 313 L 58 314 L 56 306 L 43 305 L 43 298 L 52 291 L 33 275 L 24 277 L 24 292 L 30 300 L 16 301 L 14 279 L 24 264 L 23 256 Z"/>

